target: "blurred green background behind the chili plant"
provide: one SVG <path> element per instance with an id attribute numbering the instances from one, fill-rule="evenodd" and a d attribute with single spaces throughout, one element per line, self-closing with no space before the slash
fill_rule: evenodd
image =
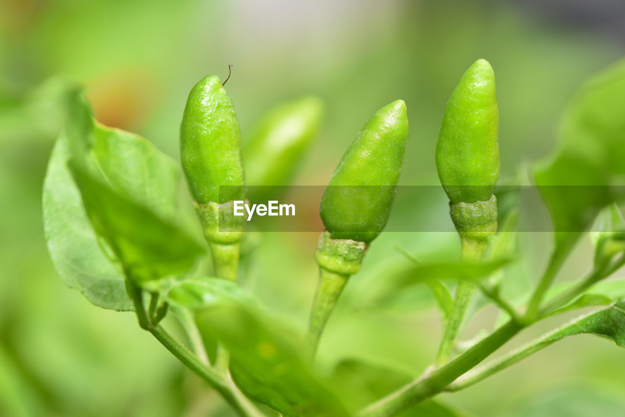
<path id="1" fill-rule="evenodd" d="M 244 138 L 268 106 L 319 94 L 326 121 L 296 179 L 314 185 L 327 182 L 376 109 L 402 98 L 411 138 L 401 184 L 437 184 L 444 104 L 464 70 L 486 58 L 497 77 L 506 178 L 554 149 L 567 98 L 623 55 L 623 21 L 621 2 L 607 0 L 0 0 L 0 415 L 232 415 L 133 314 L 91 306 L 54 271 L 41 185 L 66 80 L 84 84 L 99 121 L 176 158 L 189 89 L 206 74 L 223 78 L 227 64 L 234 64 L 227 87 Z M 432 201 L 393 215 L 446 218 L 447 208 Z M 267 234 L 247 277 L 252 291 L 301 328 L 316 284 L 316 239 Z M 522 241 L 510 296 L 540 271 L 551 236 Z M 361 358 L 416 376 L 430 363 L 440 326 L 427 289 L 384 309 L 360 302 L 401 258 L 397 245 L 422 259 L 457 258 L 459 248 L 453 233 L 383 233 L 328 324 L 322 368 Z M 562 279 L 578 278 L 589 253 L 582 243 Z M 484 309 L 466 338 L 493 323 L 494 309 Z M 622 349 L 576 336 L 441 399 L 479 416 L 622 416 L 623 369 Z"/>

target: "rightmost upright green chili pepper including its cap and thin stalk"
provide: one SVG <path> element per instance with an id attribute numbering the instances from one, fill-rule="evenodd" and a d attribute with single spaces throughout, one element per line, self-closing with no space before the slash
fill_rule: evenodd
<path id="1" fill-rule="evenodd" d="M 497 231 L 497 199 L 492 193 L 499 176 L 498 122 L 495 76 L 491 64 L 478 59 L 447 101 L 436 144 L 436 168 L 449 197 L 464 261 L 479 262 Z M 469 281 L 456 288 L 437 364 L 449 360 L 473 291 Z"/>

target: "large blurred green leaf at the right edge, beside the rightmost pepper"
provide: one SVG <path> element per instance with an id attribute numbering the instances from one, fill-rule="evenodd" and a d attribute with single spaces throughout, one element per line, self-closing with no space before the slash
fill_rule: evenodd
<path id="1" fill-rule="evenodd" d="M 551 213 L 557 246 L 570 248 L 599 210 L 624 196 L 625 61 L 578 91 L 559 136 L 555 158 L 534 178 Z"/>

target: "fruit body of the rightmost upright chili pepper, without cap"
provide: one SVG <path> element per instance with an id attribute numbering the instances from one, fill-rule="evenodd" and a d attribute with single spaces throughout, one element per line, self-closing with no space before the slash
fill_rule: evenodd
<path id="1" fill-rule="evenodd" d="M 499 176 L 499 111 L 491 64 L 478 59 L 451 94 L 436 144 L 436 167 L 451 204 L 488 201 Z"/>

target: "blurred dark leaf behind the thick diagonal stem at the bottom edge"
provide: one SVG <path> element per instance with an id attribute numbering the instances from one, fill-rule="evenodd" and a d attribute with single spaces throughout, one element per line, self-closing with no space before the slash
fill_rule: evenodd
<path id="1" fill-rule="evenodd" d="M 376 399 L 412 381 L 411 376 L 398 369 L 377 366 L 356 359 L 337 364 L 332 373 L 334 386 L 339 387 L 341 398 L 349 401 L 352 411 L 357 411 Z M 411 406 L 397 417 L 460 417 L 468 414 L 445 406 L 439 401 L 423 401 Z"/>

